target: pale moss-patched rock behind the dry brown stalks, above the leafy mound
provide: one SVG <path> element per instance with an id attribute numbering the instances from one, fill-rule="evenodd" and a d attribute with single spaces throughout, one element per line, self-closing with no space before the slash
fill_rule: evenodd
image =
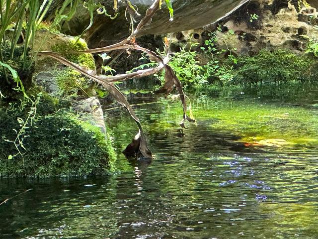
<path id="1" fill-rule="evenodd" d="M 48 30 L 39 30 L 38 38 L 34 41 L 34 50 L 68 52 L 87 50 L 87 44 L 81 38 L 52 33 Z M 45 40 L 45 45 L 42 45 Z M 41 47 L 42 46 L 42 47 Z M 95 62 L 92 54 L 70 53 L 61 54 L 69 61 L 90 70 L 95 69 Z M 35 83 L 41 85 L 49 93 L 56 96 L 91 96 L 92 82 L 70 67 L 61 65 L 50 57 L 40 56 L 35 64 Z"/>

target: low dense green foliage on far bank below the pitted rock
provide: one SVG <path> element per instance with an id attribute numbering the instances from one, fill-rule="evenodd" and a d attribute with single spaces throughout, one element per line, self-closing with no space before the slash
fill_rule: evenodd
<path id="1" fill-rule="evenodd" d="M 317 63 L 286 50 L 261 50 L 253 57 L 239 57 L 234 84 L 311 81 L 318 76 Z"/>

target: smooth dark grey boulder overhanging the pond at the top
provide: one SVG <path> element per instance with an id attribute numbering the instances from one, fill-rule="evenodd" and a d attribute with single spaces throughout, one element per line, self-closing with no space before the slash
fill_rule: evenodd
<path id="1" fill-rule="evenodd" d="M 239 8 L 248 0 L 172 0 L 174 18 L 169 20 L 166 6 L 163 6 L 153 18 L 152 23 L 146 26 L 140 33 L 162 34 L 168 32 L 179 32 L 202 27 L 211 24 L 227 16 L 233 10 Z M 145 14 L 153 0 L 131 0 L 141 13 L 139 19 Z M 102 2 L 109 14 L 113 13 L 113 1 Z M 116 43 L 129 35 L 129 25 L 125 17 L 125 5 L 119 2 L 119 15 L 116 19 L 110 19 L 105 15 L 95 13 L 93 25 L 85 34 L 85 40 L 89 48 L 96 48 Z M 89 24 L 87 9 L 82 7 L 80 1 L 79 10 L 71 21 L 63 24 L 62 30 L 67 34 L 79 35 Z M 53 13 L 53 11 L 52 11 Z M 52 17 L 52 16 L 51 16 Z M 138 19 L 138 17 L 136 17 Z M 50 19 L 50 17 L 49 17 Z M 135 23 L 137 24 L 137 23 Z"/>

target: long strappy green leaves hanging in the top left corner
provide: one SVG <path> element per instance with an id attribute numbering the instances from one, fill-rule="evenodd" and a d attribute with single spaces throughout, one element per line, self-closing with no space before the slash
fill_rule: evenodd
<path id="1" fill-rule="evenodd" d="M 76 4 L 73 4 L 73 2 L 76 2 Z M 21 83 L 26 89 L 31 87 L 33 63 L 37 55 L 36 53 L 32 54 L 30 49 L 33 47 L 37 30 L 47 25 L 47 23 L 44 24 L 42 21 L 52 4 L 53 0 L 0 1 L 0 61 L 17 71 L 21 81 L 19 81 L 18 88 L 15 87 L 15 89 L 18 89 L 24 95 L 25 92 Z M 76 5 L 77 0 L 65 0 L 61 8 L 56 11 L 54 21 L 49 26 L 45 26 L 45 28 L 49 29 L 49 31 L 55 30 L 55 27 L 62 19 L 70 19 L 75 13 Z M 46 37 L 41 45 L 44 44 L 45 40 Z M 19 46 L 18 42 L 22 46 Z M 17 50 L 22 50 L 18 56 L 16 54 Z M 12 80 L 16 82 L 17 78 L 12 78 L 8 75 L 8 69 L 8 67 L 2 65 L 0 87 L 2 89 L 6 88 L 6 93 L 12 95 L 10 91 L 11 88 L 14 88 Z"/>

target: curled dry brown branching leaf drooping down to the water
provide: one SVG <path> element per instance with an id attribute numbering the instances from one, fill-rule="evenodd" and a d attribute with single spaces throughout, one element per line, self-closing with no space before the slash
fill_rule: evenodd
<path id="1" fill-rule="evenodd" d="M 115 6 L 117 1 L 115 0 Z M 143 128 L 141 126 L 141 122 L 136 116 L 133 108 L 128 103 L 125 96 L 113 85 L 114 82 L 118 81 L 124 81 L 127 79 L 133 79 L 133 78 L 140 78 L 148 75 L 152 75 L 159 70 L 163 69 L 165 70 L 165 83 L 162 86 L 162 88 L 158 91 L 158 93 L 164 93 L 169 94 L 174 86 L 176 86 L 176 89 L 179 93 L 181 102 L 182 102 L 182 108 L 183 108 L 183 119 L 180 123 L 181 127 L 185 128 L 184 121 L 187 119 L 188 121 L 194 122 L 194 119 L 191 119 L 187 116 L 187 106 L 186 106 L 186 100 L 185 96 L 182 90 L 182 85 L 177 76 L 174 74 L 172 68 L 167 65 L 168 62 L 168 56 L 166 56 L 164 59 L 156 54 L 155 52 L 148 50 L 146 48 L 140 47 L 137 44 L 135 44 L 136 35 L 138 35 L 138 32 L 147 24 L 150 24 L 152 17 L 155 15 L 156 11 L 159 9 L 159 3 L 160 0 L 155 0 L 155 2 L 147 9 L 146 15 L 142 18 L 142 20 L 137 25 L 136 29 L 132 34 L 127 38 L 122 40 L 119 43 L 105 46 L 101 48 L 95 48 L 95 49 L 89 49 L 89 50 L 83 50 L 83 51 L 76 51 L 76 52 L 40 52 L 39 55 L 46 55 L 49 57 L 52 57 L 61 63 L 63 63 L 66 66 L 69 66 L 79 73 L 85 75 L 86 77 L 90 78 L 91 80 L 101 84 L 108 92 L 109 94 L 122 106 L 124 106 L 130 116 L 136 121 L 139 132 L 136 134 L 135 138 L 133 139 L 132 143 L 130 143 L 126 149 L 123 151 L 126 155 L 132 156 L 132 155 L 140 155 L 145 158 L 152 158 L 151 151 L 148 147 L 147 138 L 144 134 Z M 109 52 L 113 50 L 139 50 L 147 53 L 151 60 L 158 63 L 158 66 L 151 69 L 146 70 L 139 70 L 133 73 L 127 73 L 127 74 L 119 74 L 115 76 L 104 76 L 104 75 L 96 75 L 96 72 L 94 71 L 88 71 L 87 69 L 83 69 L 79 67 L 78 65 L 66 60 L 65 58 L 59 56 L 59 53 L 98 53 L 98 52 Z"/>

